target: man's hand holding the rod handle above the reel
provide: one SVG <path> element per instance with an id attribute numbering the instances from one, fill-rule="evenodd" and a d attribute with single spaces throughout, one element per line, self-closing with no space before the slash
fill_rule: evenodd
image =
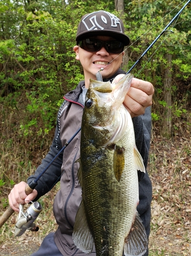
<path id="1" fill-rule="evenodd" d="M 19 204 L 29 203 L 29 201 L 33 201 L 37 197 L 37 190 L 34 189 L 31 194 L 28 196 L 25 193 L 25 188 L 27 186 L 26 182 L 21 181 L 19 184 L 16 184 L 8 196 L 9 198 L 9 205 L 14 211 L 19 211 Z"/>

